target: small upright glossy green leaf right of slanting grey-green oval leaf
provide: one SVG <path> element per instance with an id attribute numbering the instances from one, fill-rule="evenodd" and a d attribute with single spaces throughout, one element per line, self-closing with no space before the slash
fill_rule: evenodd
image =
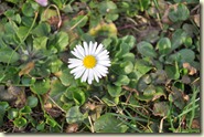
<path id="1" fill-rule="evenodd" d="M 171 52 L 171 41 L 169 38 L 162 38 L 159 40 L 157 48 L 160 54 L 169 54 Z"/>

